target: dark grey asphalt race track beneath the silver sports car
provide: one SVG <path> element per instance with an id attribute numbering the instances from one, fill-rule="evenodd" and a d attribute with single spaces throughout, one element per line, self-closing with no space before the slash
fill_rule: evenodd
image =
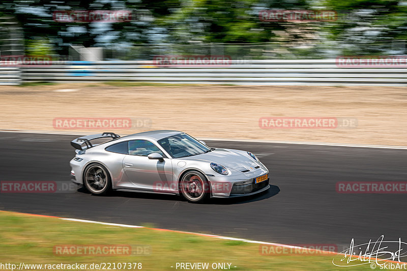
<path id="1" fill-rule="evenodd" d="M 0 181 L 55 181 L 72 188 L 75 136 L 0 133 Z M 407 194 L 343 194 L 340 181 L 407 182 L 407 150 L 244 142 L 207 142 L 258 155 L 271 189 L 252 197 L 189 204 L 179 196 L 74 186 L 59 193 L 0 193 L 0 210 L 215 233 L 284 244 L 346 246 L 405 241 Z"/>

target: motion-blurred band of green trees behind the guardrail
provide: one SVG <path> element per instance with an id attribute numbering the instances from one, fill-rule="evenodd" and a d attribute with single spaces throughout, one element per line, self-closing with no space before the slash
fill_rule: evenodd
<path id="1" fill-rule="evenodd" d="M 52 18 L 53 12 L 60 10 L 121 9 L 132 10 L 135 20 L 66 23 Z M 261 21 L 259 11 L 267 9 L 334 10 L 338 18 L 307 23 Z M 331 56 L 406 53 L 405 0 L 4 0 L 0 10 L 0 17 L 12 16 L 21 25 L 27 54 L 68 55 L 70 45 L 110 46 L 111 51 L 105 50 L 110 58 L 151 59 L 159 53 L 214 53 L 216 48 L 211 44 L 255 43 L 273 44 L 264 50 L 254 45 L 230 46 L 221 52 L 252 58 L 265 57 L 265 51 L 267 57 L 286 58 L 324 57 L 324 50 Z M 140 44 L 171 47 L 131 48 Z M 118 50 L 124 53 L 118 56 L 114 53 Z"/>

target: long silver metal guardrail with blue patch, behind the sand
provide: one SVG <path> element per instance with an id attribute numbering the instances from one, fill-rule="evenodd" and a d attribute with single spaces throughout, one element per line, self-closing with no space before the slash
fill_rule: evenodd
<path id="1" fill-rule="evenodd" d="M 153 61 L 70 61 L 21 67 L 23 82 L 154 82 L 240 85 L 407 86 L 407 65 L 339 67 L 336 59 L 230 60 L 228 65 L 157 66 Z"/>

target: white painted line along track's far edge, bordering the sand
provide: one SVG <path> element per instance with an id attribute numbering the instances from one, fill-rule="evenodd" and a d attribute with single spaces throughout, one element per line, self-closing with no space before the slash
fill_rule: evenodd
<path id="1" fill-rule="evenodd" d="M 37 130 L 0 130 L 0 132 L 62 134 L 62 135 L 67 135 L 67 136 L 71 136 L 71 135 L 88 136 L 89 134 L 93 134 L 93 133 L 83 133 L 83 132 L 37 131 Z M 334 146 L 334 147 L 407 150 L 407 147 L 405 147 L 405 146 L 387 146 L 387 145 L 341 144 L 341 143 L 252 140 L 252 139 L 218 139 L 218 138 L 199 138 L 199 139 L 200 140 L 209 140 L 209 141 L 230 141 L 230 142 L 252 142 L 252 143 L 273 143 L 273 144 L 295 144 L 295 145 L 314 145 L 314 146 Z"/>

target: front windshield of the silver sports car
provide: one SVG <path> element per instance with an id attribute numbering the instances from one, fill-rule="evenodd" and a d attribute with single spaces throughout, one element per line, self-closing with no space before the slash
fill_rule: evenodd
<path id="1" fill-rule="evenodd" d="M 163 149 L 174 158 L 182 158 L 210 152 L 211 149 L 203 145 L 186 133 L 176 134 L 157 141 Z"/>

